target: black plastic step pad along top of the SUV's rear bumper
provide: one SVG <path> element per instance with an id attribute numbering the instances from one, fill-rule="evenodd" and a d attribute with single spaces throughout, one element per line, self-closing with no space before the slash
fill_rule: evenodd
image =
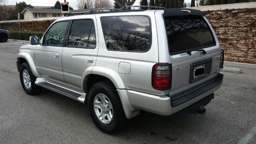
<path id="1" fill-rule="evenodd" d="M 183 96 L 180 96 L 179 98 L 176 98 L 176 99 L 173 99 L 173 96 L 170 96 L 171 106 L 172 107 L 179 106 L 180 104 L 183 104 L 189 100 L 192 100 L 193 98 L 196 98 L 197 96 L 200 96 L 201 94 L 204 94 L 205 92 L 211 90 L 212 88 L 220 85 L 222 83 L 222 80 L 223 80 L 223 74 L 219 73 L 213 82 L 210 82 L 205 86 L 202 86 L 192 92 L 186 93 Z"/>

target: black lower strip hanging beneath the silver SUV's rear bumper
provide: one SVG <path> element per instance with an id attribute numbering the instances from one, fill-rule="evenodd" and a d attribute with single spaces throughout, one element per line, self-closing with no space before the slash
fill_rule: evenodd
<path id="1" fill-rule="evenodd" d="M 214 98 L 214 93 L 210 94 L 209 96 L 203 98 L 202 100 L 192 104 L 191 106 L 188 106 L 187 108 L 184 108 L 183 110 L 180 110 L 179 112 L 176 112 L 173 114 L 175 118 L 182 118 L 184 116 L 187 116 L 189 114 L 193 114 L 200 110 L 200 108 L 206 106 L 209 104 L 209 102 Z"/>

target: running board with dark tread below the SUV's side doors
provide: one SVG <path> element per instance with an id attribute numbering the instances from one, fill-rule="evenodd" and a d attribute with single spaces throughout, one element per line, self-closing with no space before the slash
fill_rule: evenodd
<path id="1" fill-rule="evenodd" d="M 83 93 L 83 94 L 78 94 L 78 93 L 73 92 L 73 91 L 71 91 L 71 90 L 68 90 L 68 89 L 66 89 L 66 88 L 62 88 L 62 87 L 60 87 L 60 86 L 56 86 L 56 85 L 54 85 L 54 84 L 50 84 L 50 83 L 48 83 L 48 82 L 40 81 L 40 80 L 37 80 L 37 81 L 35 82 L 35 84 L 38 85 L 38 86 L 42 86 L 42 87 L 44 87 L 44 88 L 47 88 L 47 89 L 49 89 L 49 90 L 52 90 L 52 91 L 54 91 L 54 92 L 58 92 L 59 94 L 62 94 L 62 95 L 64 95 L 64 96 L 67 96 L 67 97 L 72 98 L 72 99 L 74 99 L 74 100 L 78 100 L 79 102 L 84 103 L 85 96 L 86 96 L 85 93 Z"/>

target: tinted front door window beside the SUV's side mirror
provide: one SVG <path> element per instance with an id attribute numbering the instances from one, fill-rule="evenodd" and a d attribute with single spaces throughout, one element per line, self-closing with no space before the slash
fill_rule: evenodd
<path id="1" fill-rule="evenodd" d="M 62 45 L 68 21 L 57 22 L 46 32 L 43 44 Z"/>

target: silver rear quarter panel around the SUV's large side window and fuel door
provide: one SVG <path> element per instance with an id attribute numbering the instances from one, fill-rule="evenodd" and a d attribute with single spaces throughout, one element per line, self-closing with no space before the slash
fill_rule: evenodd
<path id="1" fill-rule="evenodd" d="M 129 12 L 112 13 L 108 16 L 148 16 L 151 21 L 152 29 L 152 45 L 147 52 L 127 52 L 127 51 L 112 51 L 107 50 L 102 32 L 102 25 L 100 18 L 106 16 L 104 14 L 97 15 L 98 36 L 99 36 L 99 51 L 96 61 L 96 66 L 108 67 L 115 70 L 122 78 L 125 88 L 128 90 L 135 90 L 155 95 L 168 94 L 168 91 L 155 90 L 151 85 L 152 67 L 158 62 L 158 38 L 156 32 L 156 21 L 154 12 Z M 130 74 L 122 74 L 119 70 L 120 62 L 130 63 Z"/>

